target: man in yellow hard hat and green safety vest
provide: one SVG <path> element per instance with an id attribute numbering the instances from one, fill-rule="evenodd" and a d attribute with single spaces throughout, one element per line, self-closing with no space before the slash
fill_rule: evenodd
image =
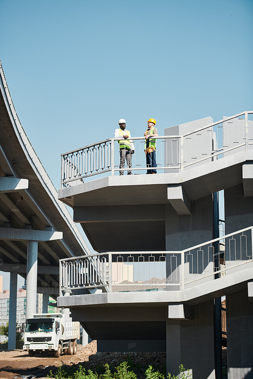
<path id="1" fill-rule="evenodd" d="M 148 128 L 145 131 L 144 135 L 146 138 L 146 165 L 147 174 L 156 174 L 156 169 L 150 169 L 150 167 L 157 167 L 156 164 L 156 139 L 154 137 L 158 137 L 158 131 L 155 128 L 156 120 L 154 118 L 150 118 L 148 121 Z"/>

